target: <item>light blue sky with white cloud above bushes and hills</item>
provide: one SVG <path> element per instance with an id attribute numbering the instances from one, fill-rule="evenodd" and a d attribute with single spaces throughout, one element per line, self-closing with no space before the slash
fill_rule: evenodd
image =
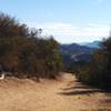
<path id="1" fill-rule="evenodd" d="M 0 11 L 61 43 L 102 40 L 111 29 L 111 0 L 0 0 Z"/>

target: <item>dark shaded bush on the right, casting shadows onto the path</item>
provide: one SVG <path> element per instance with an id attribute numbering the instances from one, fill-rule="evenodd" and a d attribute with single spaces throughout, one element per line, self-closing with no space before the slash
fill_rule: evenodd
<path id="1" fill-rule="evenodd" d="M 111 38 L 103 40 L 102 49 L 93 53 L 92 61 L 82 67 L 77 78 L 88 84 L 111 89 Z"/>

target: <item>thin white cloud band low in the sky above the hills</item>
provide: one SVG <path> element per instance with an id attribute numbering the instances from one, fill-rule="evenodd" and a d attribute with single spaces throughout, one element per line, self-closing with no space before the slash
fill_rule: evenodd
<path id="1" fill-rule="evenodd" d="M 103 24 L 89 23 L 87 27 L 80 28 L 60 22 L 46 22 L 37 24 L 37 28 L 42 28 L 44 36 L 51 34 L 62 43 L 101 40 L 109 36 L 110 30 L 108 26 Z"/>

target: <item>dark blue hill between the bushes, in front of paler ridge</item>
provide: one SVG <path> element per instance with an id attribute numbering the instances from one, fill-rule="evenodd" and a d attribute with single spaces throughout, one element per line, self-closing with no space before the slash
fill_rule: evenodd
<path id="1" fill-rule="evenodd" d="M 69 65 L 77 62 L 89 62 L 92 53 L 97 48 L 80 46 L 77 43 L 61 44 L 60 52 L 62 53 L 63 64 Z"/>

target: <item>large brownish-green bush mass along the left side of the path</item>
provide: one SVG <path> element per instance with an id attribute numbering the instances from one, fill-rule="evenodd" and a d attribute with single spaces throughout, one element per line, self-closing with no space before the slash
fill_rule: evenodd
<path id="1" fill-rule="evenodd" d="M 30 29 L 0 13 L 0 65 L 3 71 L 21 78 L 52 78 L 59 73 L 59 43 L 52 37 L 41 39 L 41 29 Z"/>

